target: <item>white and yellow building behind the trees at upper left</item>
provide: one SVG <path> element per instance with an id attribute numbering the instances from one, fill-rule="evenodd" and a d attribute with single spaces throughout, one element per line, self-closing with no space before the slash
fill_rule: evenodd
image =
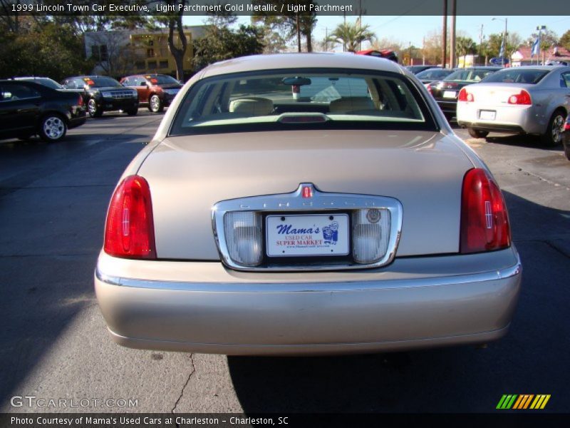
<path id="1" fill-rule="evenodd" d="M 204 26 L 185 26 L 187 49 L 185 76 L 192 74 L 193 41 L 204 34 Z M 175 46 L 182 46 L 175 32 Z M 90 31 L 85 34 L 87 58 L 95 62 L 93 73 L 120 78 L 135 73 L 176 76 L 176 62 L 168 49 L 168 30 Z"/>

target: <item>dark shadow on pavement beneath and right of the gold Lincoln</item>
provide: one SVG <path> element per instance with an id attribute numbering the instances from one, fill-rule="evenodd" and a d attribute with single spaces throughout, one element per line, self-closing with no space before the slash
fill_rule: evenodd
<path id="1" fill-rule="evenodd" d="M 552 394 L 567 412 L 570 211 L 507 193 L 523 262 L 511 330 L 487 349 L 349 357 L 228 357 L 244 412 L 494 412 L 502 394 Z"/>

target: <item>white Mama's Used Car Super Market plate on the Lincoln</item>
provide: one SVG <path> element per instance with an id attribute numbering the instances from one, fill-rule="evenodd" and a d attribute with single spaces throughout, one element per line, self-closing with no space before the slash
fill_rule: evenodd
<path id="1" fill-rule="evenodd" d="M 269 257 L 348 255 L 348 214 L 268 215 Z"/>

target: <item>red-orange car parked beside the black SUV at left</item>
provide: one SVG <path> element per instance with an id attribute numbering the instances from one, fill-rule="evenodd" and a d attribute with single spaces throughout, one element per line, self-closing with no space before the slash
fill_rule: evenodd
<path id="1" fill-rule="evenodd" d="M 148 105 L 154 113 L 170 106 L 172 100 L 182 88 L 182 83 L 167 74 L 138 74 L 121 79 L 123 86 L 136 89 L 139 103 Z"/>

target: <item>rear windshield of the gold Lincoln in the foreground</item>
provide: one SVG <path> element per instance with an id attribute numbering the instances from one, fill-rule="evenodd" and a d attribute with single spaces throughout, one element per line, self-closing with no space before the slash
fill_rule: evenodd
<path id="1" fill-rule="evenodd" d="M 299 69 L 235 73 L 195 83 L 180 103 L 171 135 L 306 128 L 436 126 L 405 76 Z"/>

